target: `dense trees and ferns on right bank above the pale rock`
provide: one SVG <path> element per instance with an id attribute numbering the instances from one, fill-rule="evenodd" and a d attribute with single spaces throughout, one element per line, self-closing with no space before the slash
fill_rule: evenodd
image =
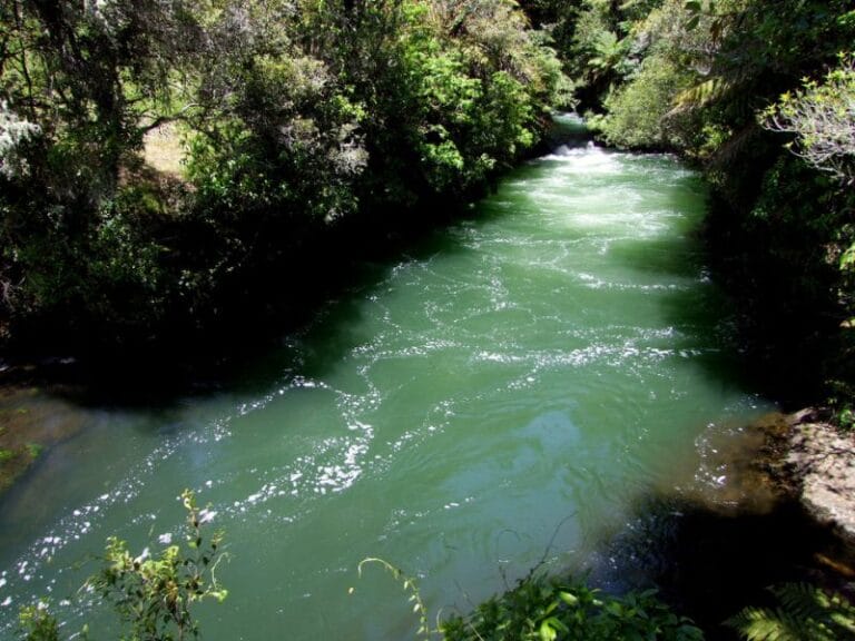
<path id="1" fill-rule="evenodd" d="M 711 258 L 743 310 L 750 361 L 767 381 L 778 374 L 776 395 L 825 394 L 845 410 L 855 314 L 852 2 L 531 4 L 553 24 L 580 109 L 606 142 L 678 151 L 705 169 Z"/>

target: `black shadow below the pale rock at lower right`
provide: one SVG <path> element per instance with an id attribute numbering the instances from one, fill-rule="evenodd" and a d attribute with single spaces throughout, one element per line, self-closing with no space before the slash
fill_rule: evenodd
<path id="1" fill-rule="evenodd" d="M 708 641 L 739 639 L 724 622 L 746 605 L 776 605 L 770 585 L 810 582 L 852 595 L 852 550 L 796 501 L 758 509 L 660 495 L 640 500 L 636 514 L 592 580 L 616 592 L 657 588 Z"/>

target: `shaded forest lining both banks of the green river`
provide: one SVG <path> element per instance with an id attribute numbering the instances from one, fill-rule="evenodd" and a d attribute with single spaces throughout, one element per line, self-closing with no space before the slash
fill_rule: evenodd
<path id="1" fill-rule="evenodd" d="M 3 0 L 0 24 L 8 357 L 248 349 L 574 106 L 702 168 L 746 362 L 849 421 L 852 2 Z"/>

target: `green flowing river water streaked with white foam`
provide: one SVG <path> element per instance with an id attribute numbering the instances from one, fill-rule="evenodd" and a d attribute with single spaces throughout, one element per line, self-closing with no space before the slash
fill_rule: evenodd
<path id="1" fill-rule="evenodd" d="M 37 595 L 68 630 L 102 624 L 76 592 L 87 560 L 111 534 L 175 539 L 185 487 L 228 542 L 209 641 L 407 638 L 405 594 L 380 568 L 360 579 L 366 556 L 417 576 L 434 612 L 541 561 L 584 566 L 646 500 L 720 483 L 705 444 L 768 407 L 734 368 L 704 206 L 670 157 L 560 147 L 366 266 L 239 387 L 66 408 L 78 428 L 0 502 L 0 637 Z"/>

